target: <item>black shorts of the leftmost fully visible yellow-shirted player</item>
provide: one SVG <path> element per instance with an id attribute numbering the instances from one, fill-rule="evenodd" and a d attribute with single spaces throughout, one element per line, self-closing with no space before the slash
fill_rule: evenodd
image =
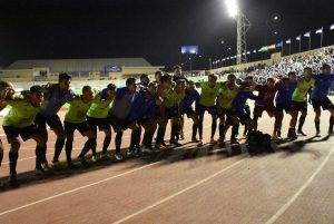
<path id="1" fill-rule="evenodd" d="M 7 136 L 7 139 L 17 138 L 19 135 L 21 138 L 26 142 L 28 140 L 32 135 L 39 135 L 40 128 L 38 125 L 30 125 L 28 127 L 13 127 L 13 126 L 2 126 L 4 134 Z"/>

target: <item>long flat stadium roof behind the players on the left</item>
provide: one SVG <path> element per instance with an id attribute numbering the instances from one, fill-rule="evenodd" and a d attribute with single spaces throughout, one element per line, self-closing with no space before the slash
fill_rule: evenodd
<path id="1" fill-rule="evenodd" d="M 144 58 L 17 60 L 6 69 L 50 68 L 51 71 L 101 71 L 106 66 L 153 67 Z"/>

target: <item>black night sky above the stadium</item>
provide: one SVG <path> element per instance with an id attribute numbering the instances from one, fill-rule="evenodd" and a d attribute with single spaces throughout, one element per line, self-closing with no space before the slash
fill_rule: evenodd
<path id="1" fill-rule="evenodd" d="M 308 30 L 315 48 L 320 36 L 314 31 L 321 27 L 324 43 L 334 43 L 334 31 L 328 30 L 334 23 L 333 0 L 239 0 L 239 4 L 253 25 L 249 50 Z M 279 19 L 274 21 L 274 16 Z M 306 38 L 302 43 L 306 50 Z M 195 68 L 207 67 L 209 57 L 236 53 L 236 22 L 223 0 L 0 1 L 0 66 L 16 59 L 144 57 L 169 68 L 185 62 L 179 53 L 183 45 L 199 46 L 203 57 L 194 58 Z"/>

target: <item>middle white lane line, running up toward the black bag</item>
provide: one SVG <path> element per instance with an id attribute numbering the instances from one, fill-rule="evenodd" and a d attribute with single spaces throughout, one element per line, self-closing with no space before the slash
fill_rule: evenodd
<path id="1" fill-rule="evenodd" d="M 246 158 L 243 158 L 243 159 L 240 159 L 240 160 L 238 160 L 238 162 L 235 162 L 235 163 L 233 163 L 232 165 L 229 165 L 229 166 L 227 166 L 227 167 L 225 167 L 225 168 L 223 168 L 223 169 L 220 169 L 220 171 L 218 171 L 218 172 L 212 174 L 210 176 L 208 176 L 208 177 L 206 177 L 206 178 L 204 178 L 204 179 L 202 179 L 202 181 L 199 181 L 199 182 L 196 182 L 195 184 L 193 184 L 193 185 L 190 185 L 190 186 L 188 186 L 188 187 L 186 187 L 186 188 L 184 188 L 184 189 L 181 189 L 181 191 L 179 191 L 179 192 L 176 192 L 175 194 L 169 195 L 168 197 L 165 197 L 165 198 L 163 198 L 163 199 L 160 199 L 160 201 L 158 201 L 158 202 L 156 202 L 156 203 L 154 203 L 154 204 L 151 204 L 151 205 L 148 205 L 147 207 L 144 207 L 143 210 L 139 210 L 139 211 L 136 212 L 136 213 L 132 213 L 132 214 L 130 214 L 130 215 L 128 215 L 128 216 L 126 216 L 126 217 L 124 217 L 124 218 L 121 218 L 121 220 L 119 220 L 119 221 L 116 221 L 116 222 L 114 222 L 112 224 L 124 223 L 124 222 L 126 222 L 126 221 L 128 221 L 128 220 L 130 220 L 130 218 L 132 218 L 132 217 L 135 217 L 135 216 L 137 216 L 137 215 L 139 215 L 139 214 L 141 214 L 141 213 L 145 213 L 145 212 L 147 212 L 147 211 L 149 211 L 149 210 L 151 210 L 151 208 L 154 208 L 154 207 L 156 207 L 156 206 L 158 206 L 158 205 L 160 205 L 160 204 L 163 204 L 163 203 L 165 203 L 165 202 L 168 202 L 168 201 L 173 199 L 174 197 L 177 197 L 178 195 L 184 194 L 184 193 L 186 193 L 186 192 L 188 192 L 188 191 L 190 191 L 190 189 L 193 189 L 193 188 L 195 188 L 195 187 L 197 187 L 197 186 L 199 186 L 199 185 L 202 185 L 202 184 L 204 184 L 204 183 L 210 181 L 212 178 L 215 178 L 215 177 L 218 176 L 219 174 L 223 174 L 223 173 L 227 172 L 228 169 L 230 169 L 230 168 L 237 166 L 238 164 L 240 164 L 240 163 L 244 162 L 245 159 L 246 159 Z"/>

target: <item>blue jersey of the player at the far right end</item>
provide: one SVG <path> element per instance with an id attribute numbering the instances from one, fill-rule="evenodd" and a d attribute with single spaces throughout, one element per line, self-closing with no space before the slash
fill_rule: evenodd
<path id="1" fill-rule="evenodd" d="M 323 100 L 327 97 L 332 82 L 334 81 L 334 75 L 313 75 L 312 78 L 315 79 L 315 84 L 312 88 L 311 99 L 312 100 Z"/>

